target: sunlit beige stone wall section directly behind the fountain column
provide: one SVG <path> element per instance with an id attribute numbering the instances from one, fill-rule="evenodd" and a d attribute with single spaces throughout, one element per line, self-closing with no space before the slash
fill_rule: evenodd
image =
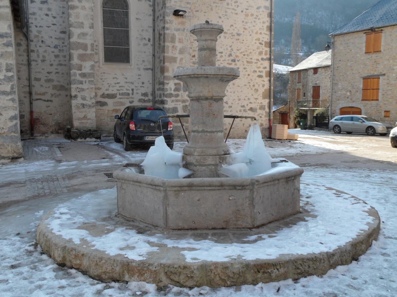
<path id="1" fill-rule="evenodd" d="M 186 10 L 183 18 L 173 10 Z M 238 67 L 224 99 L 225 114 L 256 116 L 262 136 L 268 136 L 270 71 L 270 0 L 166 0 L 164 48 L 164 107 L 170 114 L 188 113 L 189 99 L 173 78 L 179 67 L 197 65 L 197 42 L 189 28 L 197 23 L 220 23 L 217 66 Z M 162 101 L 162 100 L 161 100 Z M 225 133 L 231 120 L 225 120 Z M 230 137 L 246 137 L 251 120 L 236 120 Z M 178 125 L 175 125 L 176 132 Z"/>

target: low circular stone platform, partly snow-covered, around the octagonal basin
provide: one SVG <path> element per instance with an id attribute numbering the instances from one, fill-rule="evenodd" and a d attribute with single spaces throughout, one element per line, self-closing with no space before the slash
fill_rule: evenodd
<path id="1" fill-rule="evenodd" d="M 116 215 L 116 188 L 60 204 L 37 242 L 58 264 L 102 281 L 221 287 L 325 274 L 364 254 L 380 218 L 364 201 L 301 185 L 301 212 L 264 227 L 165 230 Z"/>

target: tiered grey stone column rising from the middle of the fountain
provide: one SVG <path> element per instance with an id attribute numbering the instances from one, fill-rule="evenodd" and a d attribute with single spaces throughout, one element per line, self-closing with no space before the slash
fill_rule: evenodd
<path id="1" fill-rule="evenodd" d="M 227 85 L 240 76 L 237 68 L 217 67 L 216 41 L 223 32 L 219 24 L 197 24 L 198 67 L 179 68 L 174 77 L 188 88 L 190 139 L 183 149 L 185 167 L 192 177 L 220 177 L 218 168 L 231 153 L 224 141 L 224 97 Z"/>

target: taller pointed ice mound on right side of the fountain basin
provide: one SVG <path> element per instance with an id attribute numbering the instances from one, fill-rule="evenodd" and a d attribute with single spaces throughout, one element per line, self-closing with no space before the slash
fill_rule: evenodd
<path id="1" fill-rule="evenodd" d="M 231 155 L 232 164 L 219 171 L 229 177 L 249 177 L 264 173 L 272 168 L 273 159 L 265 148 L 257 122 L 252 124 L 243 151 Z"/>

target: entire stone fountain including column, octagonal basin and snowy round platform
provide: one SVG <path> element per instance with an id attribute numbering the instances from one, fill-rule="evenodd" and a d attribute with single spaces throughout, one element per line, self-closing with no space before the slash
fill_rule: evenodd
<path id="1" fill-rule="evenodd" d="M 175 71 L 189 90 L 191 141 L 179 157 L 191 175 L 164 179 L 118 169 L 117 213 L 114 189 L 60 204 L 37 227 L 42 250 L 60 266 L 105 282 L 183 287 L 322 275 L 365 253 L 378 237 L 380 218 L 357 197 L 303 184 L 300 205 L 303 169 L 282 159 L 271 166 L 269 160 L 265 172 L 259 166 L 257 175 L 220 173 L 237 165 L 224 143 L 223 98 L 239 71 L 216 67 L 221 25 L 198 24 L 191 32 L 198 67 Z M 258 142 L 265 150 L 260 135 Z"/>

